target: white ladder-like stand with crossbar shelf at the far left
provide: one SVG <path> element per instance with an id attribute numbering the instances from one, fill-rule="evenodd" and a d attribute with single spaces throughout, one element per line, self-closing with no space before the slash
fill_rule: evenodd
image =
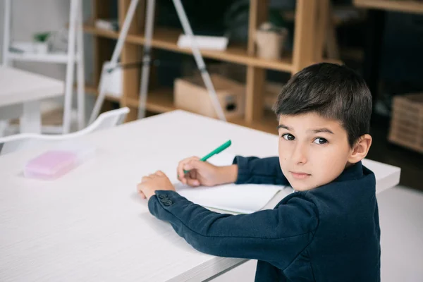
<path id="1" fill-rule="evenodd" d="M 71 111 L 74 81 L 74 64 L 77 64 L 77 100 L 78 129 L 85 127 L 84 97 L 84 44 L 82 34 L 82 1 L 71 0 L 69 15 L 68 52 L 67 54 L 17 54 L 9 51 L 11 44 L 11 0 L 4 1 L 4 34 L 3 65 L 9 66 L 12 61 L 42 61 L 46 63 L 66 63 L 65 101 L 63 104 L 63 127 L 50 133 L 69 133 L 71 130 Z M 76 50 L 75 50 L 76 44 Z M 76 52 L 75 52 L 76 51 Z M 59 132 L 58 132 L 59 131 Z"/>

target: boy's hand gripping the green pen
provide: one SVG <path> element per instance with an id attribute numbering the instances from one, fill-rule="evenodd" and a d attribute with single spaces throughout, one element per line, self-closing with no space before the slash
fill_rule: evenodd
<path id="1" fill-rule="evenodd" d="M 188 173 L 184 173 L 184 170 Z M 190 157 L 179 162 L 177 173 L 183 184 L 193 187 L 214 186 L 235 182 L 238 166 L 214 166 L 207 161 L 200 161 L 199 157 Z"/>

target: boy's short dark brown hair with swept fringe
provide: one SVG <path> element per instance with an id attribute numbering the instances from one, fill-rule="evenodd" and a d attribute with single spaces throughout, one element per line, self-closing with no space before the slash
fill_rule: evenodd
<path id="1" fill-rule="evenodd" d="M 298 115 L 314 112 L 340 121 L 353 147 L 370 130 L 372 94 L 355 71 L 335 63 L 317 63 L 293 75 L 278 95 L 274 112 Z"/>

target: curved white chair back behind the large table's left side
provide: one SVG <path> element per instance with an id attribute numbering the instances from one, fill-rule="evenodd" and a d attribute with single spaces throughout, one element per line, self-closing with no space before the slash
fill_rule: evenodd
<path id="1" fill-rule="evenodd" d="M 20 149 L 27 149 L 35 145 L 47 142 L 60 142 L 80 137 L 97 130 L 114 127 L 125 121 L 126 115 L 129 113 L 128 107 L 107 111 L 99 115 L 99 117 L 91 123 L 87 128 L 79 130 L 75 133 L 63 135 L 41 135 L 33 133 L 22 133 L 17 135 L 6 136 L 0 138 L 0 155 L 16 152 Z"/>

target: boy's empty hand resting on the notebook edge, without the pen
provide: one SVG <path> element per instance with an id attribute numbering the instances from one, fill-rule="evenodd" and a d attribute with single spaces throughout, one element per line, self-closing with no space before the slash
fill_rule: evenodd
<path id="1" fill-rule="evenodd" d="M 144 176 L 141 183 L 137 185 L 137 190 L 144 199 L 149 200 L 150 197 L 154 196 L 156 190 L 175 191 L 175 187 L 166 174 L 162 171 L 156 171 L 149 176 Z"/>

